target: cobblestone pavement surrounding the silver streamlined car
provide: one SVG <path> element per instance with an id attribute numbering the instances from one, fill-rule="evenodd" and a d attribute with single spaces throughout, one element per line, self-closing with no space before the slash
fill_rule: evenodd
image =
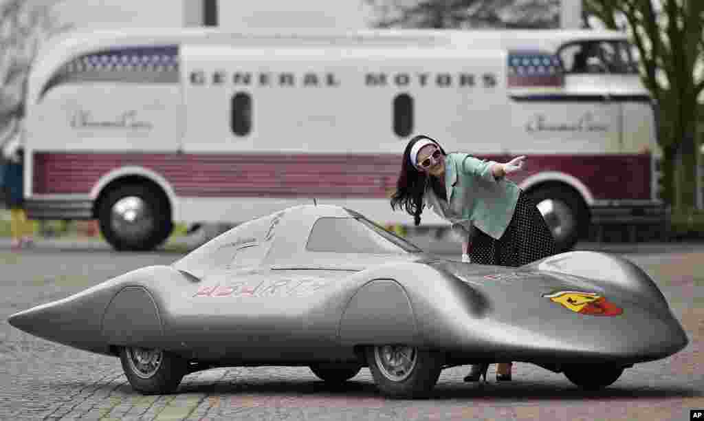
<path id="1" fill-rule="evenodd" d="M 514 365 L 514 381 L 462 381 L 445 370 L 431 398 L 387 400 L 363 369 L 329 387 L 306 367 L 222 368 L 184 377 L 177 394 L 142 396 L 119 360 L 37 339 L 7 324 L 11 313 L 60 299 L 175 253 L 0 250 L 0 420 L 689 420 L 704 408 L 704 253 L 629 256 L 655 277 L 691 344 L 636 365 L 608 389 L 585 393 L 563 375 Z"/>

